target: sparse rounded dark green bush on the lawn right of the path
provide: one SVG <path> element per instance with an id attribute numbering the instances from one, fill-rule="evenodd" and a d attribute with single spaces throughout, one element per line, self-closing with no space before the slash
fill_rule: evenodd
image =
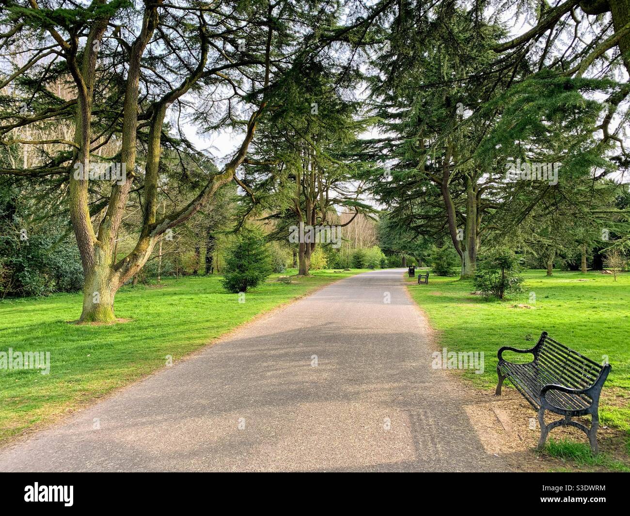
<path id="1" fill-rule="evenodd" d="M 520 258 L 507 248 L 497 248 L 486 253 L 477 264 L 474 285 L 488 299 L 503 299 L 505 294 L 522 290 Z"/>

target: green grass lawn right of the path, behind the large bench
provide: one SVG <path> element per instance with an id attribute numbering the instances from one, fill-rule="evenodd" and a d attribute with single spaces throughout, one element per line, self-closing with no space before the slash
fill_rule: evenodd
<path id="1" fill-rule="evenodd" d="M 428 285 L 408 281 L 411 296 L 438 330 L 440 346 L 484 352 L 483 374 L 464 371 L 477 386 L 495 388 L 501 346 L 531 348 L 543 330 L 597 362 L 607 355 L 612 371 L 602 391 L 600 423 L 630 432 L 630 273 L 618 275 L 616 282 L 597 272 L 547 277 L 529 270 L 524 277 L 524 292 L 507 301 L 484 301 L 472 294 L 472 282 L 457 278 L 430 276 Z"/>

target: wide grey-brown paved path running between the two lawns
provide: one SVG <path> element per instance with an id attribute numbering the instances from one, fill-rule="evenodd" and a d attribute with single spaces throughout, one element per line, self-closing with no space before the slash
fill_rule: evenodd
<path id="1" fill-rule="evenodd" d="M 5 447 L 0 471 L 510 469 L 431 352 L 403 270 L 362 273 Z"/>

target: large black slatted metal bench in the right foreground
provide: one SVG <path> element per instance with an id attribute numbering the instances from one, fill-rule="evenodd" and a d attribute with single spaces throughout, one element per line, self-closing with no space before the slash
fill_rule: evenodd
<path id="1" fill-rule="evenodd" d="M 501 357 L 504 351 L 532 353 L 534 360 L 527 364 L 512 364 Z M 558 426 L 580 428 L 588 435 L 591 449 L 597 453 L 597 428 L 599 428 L 599 395 L 610 364 L 600 365 L 559 343 L 543 331 L 536 346 L 529 350 L 503 347 L 498 352 L 496 372 L 499 382 L 496 395 L 501 395 L 501 384 L 506 378 L 538 411 L 541 438 L 538 450 L 542 450 L 550 430 Z M 564 416 L 564 419 L 545 425 L 546 410 Z M 590 428 L 571 421 L 576 416 L 591 415 Z"/>

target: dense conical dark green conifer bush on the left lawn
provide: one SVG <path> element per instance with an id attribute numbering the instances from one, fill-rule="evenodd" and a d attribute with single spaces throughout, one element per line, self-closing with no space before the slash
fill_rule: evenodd
<path id="1" fill-rule="evenodd" d="M 272 259 L 263 233 L 244 227 L 227 247 L 223 288 L 229 292 L 247 292 L 272 273 Z"/>

